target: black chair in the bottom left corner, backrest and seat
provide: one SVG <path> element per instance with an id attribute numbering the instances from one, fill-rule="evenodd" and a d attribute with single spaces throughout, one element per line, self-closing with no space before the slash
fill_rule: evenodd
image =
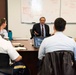
<path id="1" fill-rule="evenodd" d="M 13 68 L 9 65 L 8 54 L 0 53 L 0 73 L 6 75 L 12 75 Z"/>

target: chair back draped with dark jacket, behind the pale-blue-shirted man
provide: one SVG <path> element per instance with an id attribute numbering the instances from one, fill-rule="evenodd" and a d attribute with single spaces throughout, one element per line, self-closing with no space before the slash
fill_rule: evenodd
<path id="1" fill-rule="evenodd" d="M 45 55 L 38 75 L 76 75 L 72 51 L 55 51 Z"/>

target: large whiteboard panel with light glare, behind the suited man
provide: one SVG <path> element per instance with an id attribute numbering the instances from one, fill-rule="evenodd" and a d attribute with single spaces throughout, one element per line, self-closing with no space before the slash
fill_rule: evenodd
<path id="1" fill-rule="evenodd" d="M 21 22 L 39 22 L 40 17 L 46 23 L 54 22 L 59 17 L 60 0 L 21 0 Z"/>

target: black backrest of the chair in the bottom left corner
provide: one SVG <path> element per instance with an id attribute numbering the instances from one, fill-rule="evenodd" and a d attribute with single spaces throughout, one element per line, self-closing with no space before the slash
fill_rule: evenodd
<path id="1" fill-rule="evenodd" d="M 0 53 L 0 68 L 9 66 L 8 54 Z"/>

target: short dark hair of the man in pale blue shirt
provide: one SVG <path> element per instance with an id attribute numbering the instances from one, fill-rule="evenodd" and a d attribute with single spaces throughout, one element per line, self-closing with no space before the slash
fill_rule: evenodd
<path id="1" fill-rule="evenodd" d="M 64 31 L 66 21 L 63 18 L 57 18 L 54 22 L 54 27 L 57 31 Z"/>

